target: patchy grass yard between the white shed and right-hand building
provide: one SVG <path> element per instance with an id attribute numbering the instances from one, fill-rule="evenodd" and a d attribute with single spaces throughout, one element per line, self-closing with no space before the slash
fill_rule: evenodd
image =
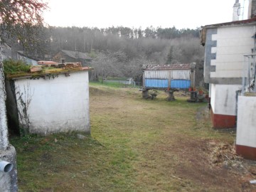
<path id="1" fill-rule="evenodd" d="M 91 136 L 11 138 L 19 191 L 235 191 L 238 178 L 213 167 L 208 148 L 233 144 L 233 133 L 210 127 L 206 103 L 158 94 L 93 82 Z"/>

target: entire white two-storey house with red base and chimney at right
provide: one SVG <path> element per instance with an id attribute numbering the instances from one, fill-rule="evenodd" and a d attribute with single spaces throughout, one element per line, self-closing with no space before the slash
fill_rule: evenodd
<path id="1" fill-rule="evenodd" d="M 233 18 L 239 10 L 235 1 Z M 256 1 L 247 20 L 203 26 L 204 78 L 215 128 L 237 128 L 236 152 L 256 160 Z"/>

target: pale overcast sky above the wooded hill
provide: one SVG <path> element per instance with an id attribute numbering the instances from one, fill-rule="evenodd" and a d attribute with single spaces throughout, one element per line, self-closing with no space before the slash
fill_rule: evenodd
<path id="1" fill-rule="evenodd" d="M 235 0 L 46 0 L 50 26 L 196 28 L 232 21 Z M 245 2 L 247 18 L 247 1 Z M 241 9 L 242 10 L 242 9 Z M 241 11 L 242 14 L 242 11 Z M 242 18 L 242 16 L 240 16 Z"/>

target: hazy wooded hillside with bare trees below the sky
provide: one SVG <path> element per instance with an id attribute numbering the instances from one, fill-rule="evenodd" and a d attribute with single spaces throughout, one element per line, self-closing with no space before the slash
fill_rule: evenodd
<path id="1" fill-rule="evenodd" d="M 95 73 L 103 77 L 136 78 L 144 64 L 201 63 L 203 59 L 198 28 L 48 27 L 40 29 L 38 41 L 27 37 L 14 42 L 13 48 L 41 60 L 50 60 L 59 50 L 89 53 Z M 23 48 L 24 42 L 29 46 Z"/>

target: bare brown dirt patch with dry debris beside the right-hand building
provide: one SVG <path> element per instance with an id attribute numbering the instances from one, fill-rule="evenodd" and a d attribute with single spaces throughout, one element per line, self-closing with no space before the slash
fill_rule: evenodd
<path id="1" fill-rule="evenodd" d="M 256 191 L 255 161 L 235 154 L 231 144 L 215 140 L 178 138 L 155 146 L 146 158 L 161 156 L 166 175 L 176 179 L 185 191 Z"/>

